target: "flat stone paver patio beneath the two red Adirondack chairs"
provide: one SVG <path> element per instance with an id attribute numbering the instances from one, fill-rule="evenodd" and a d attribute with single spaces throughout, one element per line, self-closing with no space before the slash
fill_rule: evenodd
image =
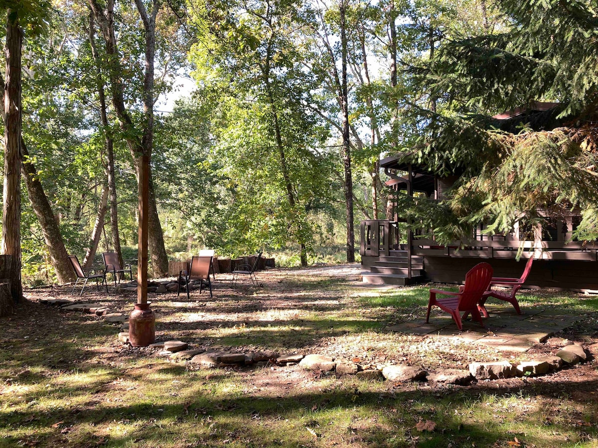
<path id="1" fill-rule="evenodd" d="M 536 343 L 544 342 L 572 326 L 579 317 L 561 314 L 553 310 L 524 309 L 518 315 L 514 309 L 501 305 L 487 304 L 490 314 L 484 319 L 484 327 L 475 321 L 463 321 L 463 331 L 448 314 L 430 315 L 428 324 L 423 319 L 407 321 L 387 330 L 431 337 L 450 337 L 463 343 L 476 343 L 495 348 L 498 351 L 525 352 Z"/>

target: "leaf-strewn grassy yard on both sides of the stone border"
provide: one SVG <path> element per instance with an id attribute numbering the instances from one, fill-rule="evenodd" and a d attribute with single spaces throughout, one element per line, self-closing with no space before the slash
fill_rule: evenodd
<path id="1" fill-rule="evenodd" d="M 220 275 L 213 299 L 199 291 L 190 302 L 176 293 L 154 296 L 157 339 L 321 353 L 358 358 L 365 367 L 466 369 L 474 360 L 521 356 L 387 332 L 424 320 L 430 286 L 364 288 L 353 271 L 269 271 L 258 274 L 259 289 L 233 289 Z M 29 300 L 17 314 L 0 320 L 1 447 L 598 447 L 596 361 L 470 386 L 363 381 L 271 364 L 199 370 L 159 351 L 123 346 L 118 325 L 37 302 L 75 300 L 69 291 L 26 291 Z M 555 343 L 598 342 L 593 296 L 519 297 L 522 309 L 580 315 Z M 135 300 L 112 290 L 108 297 L 90 290 L 83 299 L 127 313 Z M 532 348 L 551 350 L 550 342 Z M 420 431 L 428 421 L 434 430 Z"/>

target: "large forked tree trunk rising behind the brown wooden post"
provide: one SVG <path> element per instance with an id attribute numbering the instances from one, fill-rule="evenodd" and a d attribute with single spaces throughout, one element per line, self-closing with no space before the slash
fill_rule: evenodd
<path id="1" fill-rule="evenodd" d="M 106 1 L 105 9 L 102 8 L 97 0 L 88 0 L 91 10 L 94 13 L 100 29 L 102 29 L 103 38 L 106 41 L 106 54 L 108 54 L 109 76 L 112 93 L 112 105 L 117 113 L 121 128 L 123 128 L 129 151 L 135 161 L 138 182 L 141 182 L 141 162 L 149 163 L 154 137 L 154 52 L 155 52 L 155 17 L 158 14 L 158 2 L 152 1 L 152 11 L 148 15 L 141 0 L 135 0 L 139 15 L 144 22 L 145 29 L 145 74 L 144 74 L 144 129 L 142 139 L 134 137 L 137 133 L 135 125 L 124 105 L 122 69 L 120 66 L 120 55 L 116 35 L 114 32 L 114 0 Z M 145 158 L 141 158 L 139 155 Z M 148 167 L 148 176 L 151 172 Z M 145 175 L 145 173 L 144 173 Z M 144 181 L 145 182 L 145 181 Z M 168 257 L 166 248 L 164 248 L 164 235 L 158 219 L 157 207 L 155 204 L 155 194 L 151 178 L 148 179 L 148 207 L 149 213 L 147 219 L 149 248 L 152 251 L 152 268 L 154 277 L 164 277 L 168 273 Z M 145 185 L 145 184 L 144 184 Z M 141 192 L 139 193 L 141 195 Z M 141 196 L 140 196 L 141 197 Z"/>

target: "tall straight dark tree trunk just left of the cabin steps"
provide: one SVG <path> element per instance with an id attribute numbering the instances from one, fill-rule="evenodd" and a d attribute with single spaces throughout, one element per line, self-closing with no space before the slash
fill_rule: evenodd
<path id="1" fill-rule="evenodd" d="M 343 161 L 344 198 L 347 214 L 347 262 L 355 261 L 355 231 L 353 228 L 353 176 L 351 173 L 351 146 L 349 141 L 349 92 L 347 91 L 347 33 L 345 20 L 345 0 L 340 2 L 340 41 L 341 41 L 341 113 L 343 114 Z"/>

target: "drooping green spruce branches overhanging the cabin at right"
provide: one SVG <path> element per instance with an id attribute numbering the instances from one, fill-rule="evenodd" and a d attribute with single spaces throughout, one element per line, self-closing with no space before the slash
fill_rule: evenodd
<path id="1" fill-rule="evenodd" d="M 414 65 L 411 81 L 440 102 L 432 113 L 408 105 L 419 129 L 407 157 L 459 180 L 443 201 L 403 200 L 414 224 L 447 243 L 472 226 L 509 232 L 570 211 L 582 214 L 574 237 L 594 240 L 598 154 L 593 130 L 598 77 L 596 16 L 586 2 L 501 2 L 505 26 L 444 41 L 438 56 Z M 508 24 L 508 26 L 507 26 Z M 508 131 L 483 118 L 530 100 L 560 100 L 550 121 Z M 558 120 L 557 120 L 558 122 Z"/>

